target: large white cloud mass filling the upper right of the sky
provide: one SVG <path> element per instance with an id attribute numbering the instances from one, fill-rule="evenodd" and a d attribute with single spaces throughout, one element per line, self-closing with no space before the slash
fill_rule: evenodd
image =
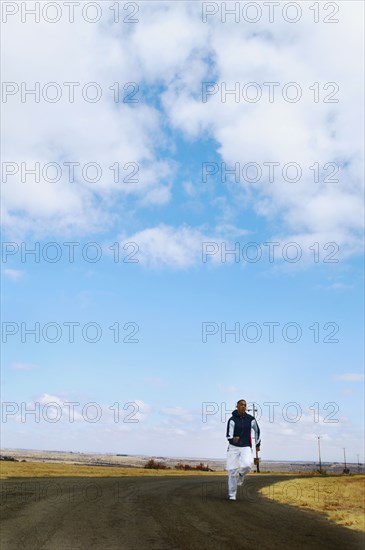
<path id="1" fill-rule="evenodd" d="M 358 4 L 347 3 L 337 25 L 307 21 L 288 29 L 284 24 L 283 33 L 282 25 L 275 23 L 267 28 L 270 41 L 264 33 L 253 39 L 247 25 L 219 24 L 217 16 L 210 28 L 214 81 L 220 87 L 225 82 L 227 88 L 238 82 L 241 92 L 247 82 L 261 83 L 263 96 L 263 82 L 279 82 L 281 88 L 287 82 L 298 82 L 302 91 L 298 103 L 284 101 L 280 86 L 274 103 L 248 103 L 242 96 L 239 103 L 232 96 L 222 103 L 219 93 L 202 103 L 196 93 L 201 75 L 191 87 L 188 81 L 184 85 L 184 73 L 180 73 L 178 85 L 168 85 L 163 96 L 170 123 L 189 137 L 213 137 L 227 165 L 239 162 L 242 168 L 256 162 L 263 167 L 264 162 L 279 162 L 282 170 L 288 162 L 298 163 L 302 169 L 299 182 L 282 177 L 269 182 L 263 177 L 259 183 L 249 183 L 241 178 L 233 196 L 248 197 L 251 207 L 268 220 L 280 216 L 287 234 L 302 234 L 312 242 L 320 234 L 327 238 L 324 242 L 333 241 L 328 235 L 334 235 L 339 244 L 349 247 L 349 253 L 359 252 L 364 218 L 360 122 L 363 59 L 357 53 L 362 51 L 360 13 Z M 341 44 L 336 55 L 334 43 Z M 325 94 L 321 89 L 318 102 L 310 90 L 314 82 L 322 88 L 326 82 L 334 82 Z M 324 102 L 324 95 L 337 86 L 338 103 Z M 321 175 L 321 182 L 315 183 L 310 169 L 315 162 L 322 167 L 331 162 L 339 165 L 339 182 L 323 181 L 329 179 L 332 165 Z"/>

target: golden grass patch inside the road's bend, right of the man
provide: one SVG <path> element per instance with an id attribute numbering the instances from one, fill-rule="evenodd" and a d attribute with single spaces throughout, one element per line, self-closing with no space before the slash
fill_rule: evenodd
<path id="1" fill-rule="evenodd" d="M 280 481 L 261 489 L 278 502 L 323 512 L 350 529 L 365 531 L 365 476 L 331 476 Z"/>

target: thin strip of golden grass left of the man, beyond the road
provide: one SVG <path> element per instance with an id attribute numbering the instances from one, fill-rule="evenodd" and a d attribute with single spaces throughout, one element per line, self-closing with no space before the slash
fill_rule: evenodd
<path id="1" fill-rule="evenodd" d="M 84 466 L 78 464 L 52 464 L 49 462 L 7 462 L 0 464 L 0 479 L 14 477 L 122 477 L 122 476 L 191 476 L 222 475 L 223 472 L 199 470 L 148 470 L 119 466 Z"/>

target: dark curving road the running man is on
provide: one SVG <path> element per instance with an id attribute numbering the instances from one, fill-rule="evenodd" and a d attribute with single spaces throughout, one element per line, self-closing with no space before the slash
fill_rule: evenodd
<path id="1" fill-rule="evenodd" d="M 289 477 L 249 476 L 236 502 L 222 477 L 12 479 L 2 550 L 364 548 L 361 533 L 258 494 Z"/>

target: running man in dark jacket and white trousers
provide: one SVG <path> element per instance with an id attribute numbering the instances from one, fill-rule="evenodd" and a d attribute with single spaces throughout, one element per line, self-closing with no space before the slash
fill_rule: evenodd
<path id="1" fill-rule="evenodd" d="M 229 500 L 236 500 L 237 485 L 242 485 L 245 475 L 251 470 L 253 464 L 251 430 L 255 432 L 258 451 L 261 445 L 260 428 L 255 418 L 246 413 L 246 407 L 247 403 L 244 399 L 237 401 L 236 410 L 232 412 L 227 423 L 226 470 L 228 470 Z"/>

